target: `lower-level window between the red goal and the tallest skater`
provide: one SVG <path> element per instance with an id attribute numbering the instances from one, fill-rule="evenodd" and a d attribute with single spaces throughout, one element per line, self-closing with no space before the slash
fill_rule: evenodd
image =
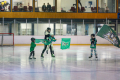
<path id="1" fill-rule="evenodd" d="M 29 19 L 14 19 L 12 23 L 12 33 L 15 35 L 33 35 L 33 26 Z"/>

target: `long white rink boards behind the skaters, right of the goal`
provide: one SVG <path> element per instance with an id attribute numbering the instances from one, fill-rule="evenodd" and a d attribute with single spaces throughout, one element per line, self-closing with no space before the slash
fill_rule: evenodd
<path id="1" fill-rule="evenodd" d="M 14 44 L 30 44 L 31 38 L 34 37 L 36 39 L 44 39 L 44 36 L 14 36 Z M 71 44 L 90 44 L 90 36 L 55 36 L 58 39 L 53 44 L 61 44 L 61 38 L 71 38 Z M 111 44 L 109 41 L 96 37 L 97 44 Z M 39 43 L 42 44 L 42 43 Z"/>

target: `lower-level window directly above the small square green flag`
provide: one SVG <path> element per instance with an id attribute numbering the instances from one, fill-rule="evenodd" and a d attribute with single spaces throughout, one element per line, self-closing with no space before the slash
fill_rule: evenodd
<path id="1" fill-rule="evenodd" d="M 77 25 L 71 19 L 62 19 L 55 24 L 55 35 L 77 35 Z"/>

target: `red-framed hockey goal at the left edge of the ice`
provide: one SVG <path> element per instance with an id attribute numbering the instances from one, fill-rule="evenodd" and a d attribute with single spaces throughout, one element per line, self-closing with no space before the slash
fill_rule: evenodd
<path id="1" fill-rule="evenodd" d="M 0 46 L 14 46 L 14 33 L 0 33 Z"/>

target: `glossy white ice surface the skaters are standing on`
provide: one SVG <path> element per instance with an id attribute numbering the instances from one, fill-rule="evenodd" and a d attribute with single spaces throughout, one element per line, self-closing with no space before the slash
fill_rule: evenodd
<path id="1" fill-rule="evenodd" d="M 29 60 L 29 46 L 0 47 L 0 80 L 120 80 L 120 49 L 97 46 L 98 60 L 89 46 L 54 46 L 55 58 L 40 57 L 43 46 L 35 49 L 36 60 Z"/>

